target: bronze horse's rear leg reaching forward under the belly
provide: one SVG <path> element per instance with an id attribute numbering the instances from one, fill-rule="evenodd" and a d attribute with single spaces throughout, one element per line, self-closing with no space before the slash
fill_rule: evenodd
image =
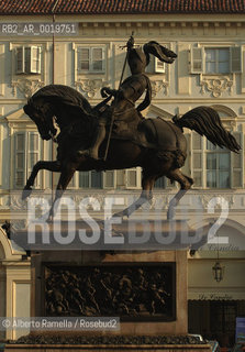
<path id="1" fill-rule="evenodd" d="M 127 218 L 138 208 L 141 208 L 146 201 L 149 201 L 153 198 L 152 189 L 155 184 L 156 176 L 149 175 L 148 173 L 143 170 L 143 178 L 142 178 L 142 194 L 136 201 L 134 201 L 130 207 L 126 209 L 114 213 L 113 217 L 124 217 Z"/>

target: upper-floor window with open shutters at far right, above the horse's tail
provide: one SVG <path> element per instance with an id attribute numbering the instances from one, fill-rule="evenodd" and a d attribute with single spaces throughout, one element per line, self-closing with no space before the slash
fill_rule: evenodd
<path id="1" fill-rule="evenodd" d="M 241 47 L 193 47 L 191 73 L 224 75 L 242 72 Z"/>

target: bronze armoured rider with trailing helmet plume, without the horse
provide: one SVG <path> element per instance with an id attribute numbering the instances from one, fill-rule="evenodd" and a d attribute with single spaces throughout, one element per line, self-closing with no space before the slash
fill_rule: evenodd
<path id="1" fill-rule="evenodd" d="M 141 119 L 141 111 L 146 109 L 152 101 L 152 85 L 148 76 L 145 74 L 145 68 L 149 64 L 149 54 L 155 55 L 162 62 L 172 63 L 177 55 L 159 45 L 156 42 L 149 42 L 141 48 L 134 48 L 134 38 L 131 38 L 126 43 L 127 54 L 126 59 L 131 69 L 131 76 L 127 77 L 118 90 L 103 87 L 101 89 L 101 96 L 114 97 L 114 100 L 110 107 L 99 116 L 99 125 L 92 144 L 88 150 L 79 151 L 79 155 L 87 155 L 94 160 L 98 160 L 99 147 L 105 138 L 105 125 L 112 123 L 113 130 L 119 135 L 122 130 L 122 122 L 124 122 L 124 131 L 129 135 L 133 136 L 134 129 L 138 124 L 138 118 Z M 166 55 L 167 54 L 167 55 Z M 145 99 L 135 108 L 135 102 L 146 92 Z M 134 120 L 134 125 L 126 125 L 127 121 Z M 116 123 L 118 121 L 118 123 Z M 124 132 L 124 135 L 125 133 Z"/>

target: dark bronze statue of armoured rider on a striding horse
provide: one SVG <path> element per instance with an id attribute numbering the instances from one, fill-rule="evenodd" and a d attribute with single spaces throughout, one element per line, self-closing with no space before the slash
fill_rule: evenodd
<path id="1" fill-rule="evenodd" d="M 176 54 L 156 42 L 144 45 L 144 53 L 127 42 L 127 62 L 132 75 L 119 90 L 102 88 L 109 97 L 96 107 L 77 90 L 62 85 L 49 85 L 35 92 L 24 106 L 25 113 L 36 123 L 44 140 L 57 141 L 57 160 L 37 162 L 23 191 L 26 198 L 40 169 L 60 173 L 55 200 L 59 199 L 76 170 L 107 170 L 141 166 L 143 169 L 141 197 L 118 216 L 130 216 L 144 202 L 151 200 L 155 182 L 167 176 L 180 184 L 180 190 L 171 199 L 167 218 L 171 219 L 175 208 L 193 184 L 180 168 L 187 156 L 187 141 L 183 128 L 194 130 L 220 147 L 233 152 L 240 145 L 221 123 L 215 110 L 198 107 L 172 122 L 164 119 L 144 119 L 141 111 L 151 103 L 152 89 L 145 67 L 149 54 L 171 64 Z M 146 91 L 145 99 L 135 108 L 136 100 Z M 108 106 L 111 97 L 114 100 Z M 60 133 L 56 136 L 54 121 Z M 112 127 L 112 134 L 108 131 Z M 110 139 L 107 158 L 107 140 Z M 92 141 L 92 144 L 91 144 Z M 53 211 L 53 209 L 52 209 Z"/>

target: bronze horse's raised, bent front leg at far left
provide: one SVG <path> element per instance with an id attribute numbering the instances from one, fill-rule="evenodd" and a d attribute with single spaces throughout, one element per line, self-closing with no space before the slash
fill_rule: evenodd
<path id="1" fill-rule="evenodd" d="M 56 162 L 44 162 L 44 161 L 37 162 L 33 166 L 32 173 L 26 182 L 26 185 L 24 186 L 24 189 L 22 191 L 22 199 L 25 199 L 31 195 L 35 178 L 41 169 L 47 169 L 53 173 L 59 173 L 60 163 L 57 161 Z"/>

